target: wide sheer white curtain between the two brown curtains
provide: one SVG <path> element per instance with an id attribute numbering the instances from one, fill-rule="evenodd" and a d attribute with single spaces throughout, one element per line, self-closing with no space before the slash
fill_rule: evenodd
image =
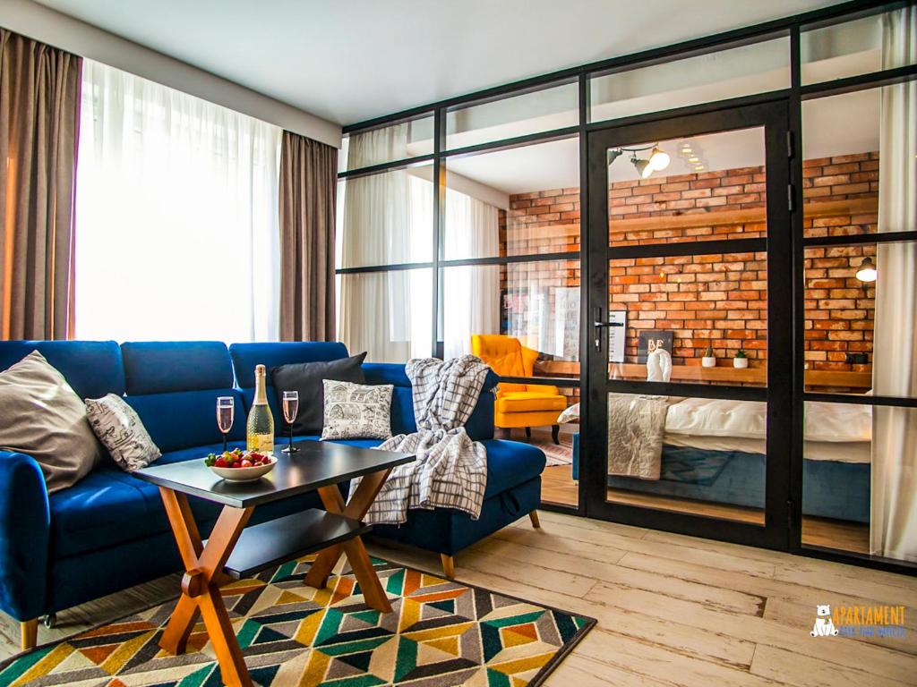
<path id="1" fill-rule="evenodd" d="M 281 129 L 84 60 L 81 339 L 278 338 Z"/>

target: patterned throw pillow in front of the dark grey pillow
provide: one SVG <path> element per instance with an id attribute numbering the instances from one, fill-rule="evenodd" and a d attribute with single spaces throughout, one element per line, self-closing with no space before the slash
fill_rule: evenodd
<path id="1" fill-rule="evenodd" d="M 325 427 L 322 439 L 388 439 L 392 436 L 391 384 L 366 386 L 323 381 Z"/>

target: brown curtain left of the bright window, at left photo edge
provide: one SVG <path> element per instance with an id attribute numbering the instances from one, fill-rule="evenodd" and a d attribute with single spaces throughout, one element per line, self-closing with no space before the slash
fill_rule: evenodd
<path id="1" fill-rule="evenodd" d="M 0 338 L 72 333 L 83 60 L 0 28 Z"/>

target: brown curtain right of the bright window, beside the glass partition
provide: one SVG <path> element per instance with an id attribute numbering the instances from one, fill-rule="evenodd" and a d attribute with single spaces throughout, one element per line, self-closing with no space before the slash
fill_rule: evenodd
<path id="1" fill-rule="evenodd" d="M 335 339 L 337 148 L 283 132 L 281 339 Z"/>

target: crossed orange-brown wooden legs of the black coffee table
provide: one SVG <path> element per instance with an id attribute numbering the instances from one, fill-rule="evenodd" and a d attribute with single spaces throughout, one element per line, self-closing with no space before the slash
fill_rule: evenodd
<path id="1" fill-rule="evenodd" d="M 337 485 L 320 487 L 318 493 L 329 513 L 362 520 L 390 472 L 391 469 L 380 470 L 364 476 L 347 506 Z M 251 687 L 249 670 L 226 612 L 220 586 L 230 582 L 223 568 L 249 522 L 254 507 L 223 507 L 204 547 L 188 497 L 165 486 L 160 486 L 160 495 L 185 569 L 182 595 L 160 638 L 160 647 L 171 654 L 184 653 L 194 626 L 203 617 L 223 682 L 228 687 Z M 350 562 L 366 604 L 382 613 L 391 613 L 392 605 L 372 569 L 370 555 L 359 536 L 323 549 L 306 574 L 305 583 L 319 589 L 324 588 L 342 553 Z"/>

